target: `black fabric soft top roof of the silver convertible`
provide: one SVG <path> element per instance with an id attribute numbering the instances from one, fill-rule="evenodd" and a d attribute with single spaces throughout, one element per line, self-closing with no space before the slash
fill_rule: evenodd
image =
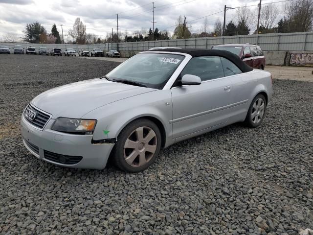
<path id="1" fill-rule="evenodd" d="M 242 59 L 238 55 L 235 55 L 234 53 L 231 53 L 226 50 L 166 48 L 166 49 L 157 49 L 157 50 L 150 50 L 150 51 L 179 52 L 179 53 L 189 54 L 192 57 L 206 56 L 206 55 L 221 56 L 233 62 L 243 72 L 249 72 L 253 70 L 245 62 L 243 62 Z"/>

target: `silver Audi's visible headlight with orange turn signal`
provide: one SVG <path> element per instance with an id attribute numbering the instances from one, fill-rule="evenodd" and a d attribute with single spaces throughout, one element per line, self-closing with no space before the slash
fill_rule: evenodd
<path id="1" fill-rule="evenodd" d="M 53 123 L 51 130 L 72 134 L 91 135 L 96 123 L 96 119 L 58 118 Z"/>

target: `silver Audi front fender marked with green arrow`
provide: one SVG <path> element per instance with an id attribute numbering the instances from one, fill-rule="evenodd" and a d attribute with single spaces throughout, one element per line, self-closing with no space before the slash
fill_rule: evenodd
<path id="1" fill-rule="evenodd" d="M 93 140 L 103 140 L 117 138 L 128 123 L 142 117 L 158 119 L 164 127 L 166 139 L 172 136 L 170 90 L 156 90 L 119 100 L 99 107 L 82 118 L 97 119 Z"/>

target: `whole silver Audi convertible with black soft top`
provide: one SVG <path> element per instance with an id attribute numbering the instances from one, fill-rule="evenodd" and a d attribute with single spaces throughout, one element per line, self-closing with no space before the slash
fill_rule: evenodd
<path id="1" fill-rule="evenodd" d="M 235 122 L 259 126 L 271 95 L 271 74 L 231 52 L 149 50 L 35 97 L 22 113 L 23 143 L 49 163 L 103 169 L 110 158 L 138 172 L 175 142 Z"/>

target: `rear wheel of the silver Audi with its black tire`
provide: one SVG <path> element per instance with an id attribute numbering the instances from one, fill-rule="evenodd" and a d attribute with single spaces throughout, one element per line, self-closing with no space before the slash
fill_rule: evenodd
<path id="1" fill-rule="evenodd" d="M 245 123 L 248 127 L 255 128 L 261 125 L 265 118 L 266 106 L 267 103 L 263 94 L 254 97 L 246 114 Z"/>

